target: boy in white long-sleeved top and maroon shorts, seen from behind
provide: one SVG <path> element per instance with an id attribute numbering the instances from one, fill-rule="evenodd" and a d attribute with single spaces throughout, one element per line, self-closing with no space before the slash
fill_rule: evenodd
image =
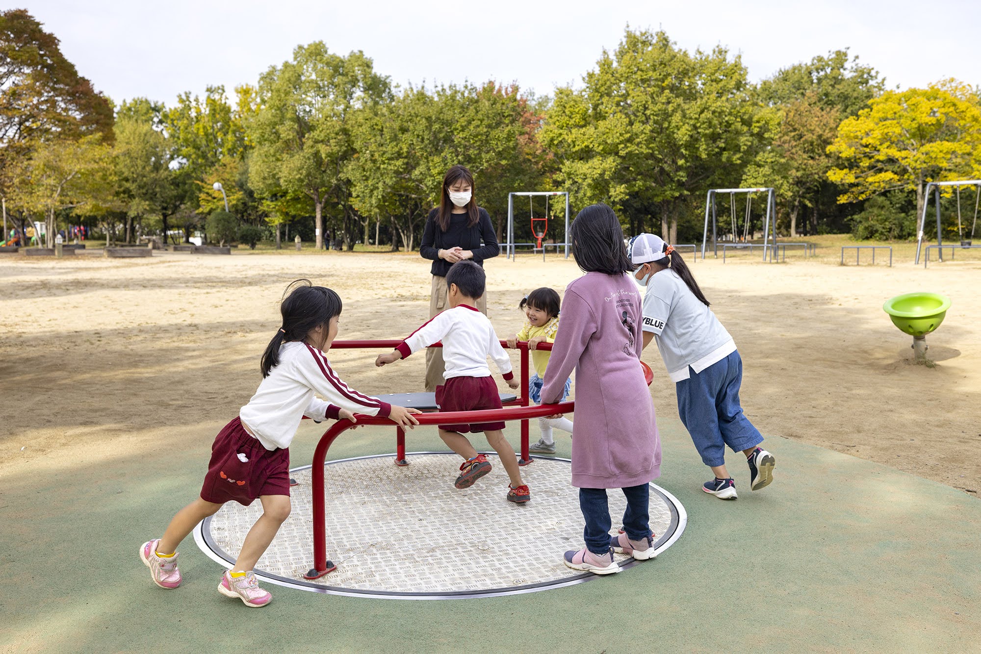
<path id="1" fill-rule="evenodd" d="M 511 372 L 511 360 L 500 346 L 493 326 L 487 316 L 476 309 L 477 300 L 484 295 L 486 284 L 484 269 L 474 262 L 453 264 L 446 274 L 446 296 L 450 308 L 412 332 L 393 352 L 379 355 L 375 365 L 381 367 L 405 359 L 413 352 L 441 340 L 446 370 L 443 373 L 445 383 L 436 389 L 439 410 L 500 409 L 500 395 L 497 394 L 497 384 L 490 377 L 488 356 L 497 364 L 508 386 L 517 388 L 518 381 Z M 514 448 L 504 438 L 503 428 L 503 422 L 439 426 L 439 437 L 465 459 L 460 466 L 460 476 L 453 485 L 469 488 L 477 479 L 490 473 L 487 457 L 478 454 L 470 440 L 461 433 L 483 431 L 510 478 L 508 501 L 527 502 L 531 499 L 531 493 L 521 479 L 518 459 L 514 456 Z"/>

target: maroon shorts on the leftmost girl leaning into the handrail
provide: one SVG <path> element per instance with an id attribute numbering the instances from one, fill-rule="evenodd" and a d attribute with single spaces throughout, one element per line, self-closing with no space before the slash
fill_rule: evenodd
<path id="1" fill-rule="evenodd" d="M 235 418 L 215 436 L 201 499 L 248 506 L 262 495 L 289 495 L 289 448 L 267 450 Z"/>

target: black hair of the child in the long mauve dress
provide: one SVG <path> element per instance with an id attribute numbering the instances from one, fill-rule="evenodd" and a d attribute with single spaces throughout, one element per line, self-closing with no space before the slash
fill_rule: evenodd
<path id="1" fill-rule="evenodd" d="M 623 275 L 634 271 L 627 256 L 623 227 L 605 204 L 591 204 L 579 212 L 569 229 L 572 256 L 584 273 Z"/>

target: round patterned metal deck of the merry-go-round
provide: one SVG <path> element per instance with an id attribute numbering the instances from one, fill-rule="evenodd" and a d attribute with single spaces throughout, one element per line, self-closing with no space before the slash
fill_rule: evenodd
<path id="1" fill-rule="evenodd" d="M 562 553 L 583 546 L 578 489 L 570 485 L 567 459 L 536 457 L 521 469 L 532 500 L 505 500 L 507 475 L 495 455 L 493 470 L 466 490 L 453 487 L 460 458 L 452 453 L 409 455 L 411 465 L 392 465 L 393 455 L 327 463 L 327 551 L 337 570 L 313 581 L 310 467 L 294 469 L 300 485 L 292 513 L 256 574 L 274 583 L 319 592 L 400 599 L 449 599 L 533 592 L 594 579 L 566 568 Z M 618 528 L 626 502 L 610 490 L 610 515 Z M 212 559 L 231 565 L 246 532 L 262 514 L 230 502 L 195 529 Z M 650 527 L 658 552 L 685 528 L 684 508 L 651 484 Z M 621 568 L 638 562 L 616 555 Z M 656 561 L 645 565 L 657 565 Z"/>

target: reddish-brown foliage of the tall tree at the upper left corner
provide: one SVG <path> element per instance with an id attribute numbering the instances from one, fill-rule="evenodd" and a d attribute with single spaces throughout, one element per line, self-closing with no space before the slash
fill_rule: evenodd
<path id="1" fill-rule="evenodd" d="M 0 13 L 0 184 L 45 139 L 101 134 L 112 141 L 112 105 L 58 44 L 25 10 Z"/>

